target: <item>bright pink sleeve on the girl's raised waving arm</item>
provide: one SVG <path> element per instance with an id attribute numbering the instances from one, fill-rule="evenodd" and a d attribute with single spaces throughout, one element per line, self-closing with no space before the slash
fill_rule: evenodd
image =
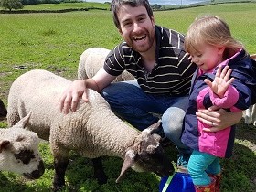
<path id="1" fill-rule="evenodd" d="M 213 91 L 209 91 L 209 96 L 212 104 L 220 108 L 230 108 L 239 100 L 239 92 L 232 85 L 229 85 L 229 88 L 225 92 L 223 98 L 219 98 L 219 96 Z"/>

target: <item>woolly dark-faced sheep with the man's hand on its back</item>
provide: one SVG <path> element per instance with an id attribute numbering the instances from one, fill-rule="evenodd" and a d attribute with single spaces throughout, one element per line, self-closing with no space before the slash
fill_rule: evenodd
<path id="1" fill-rule="evenodd" d="M 99 183 L 107 177 L 101 167 L 101 155 L 123 158 L 123 167 L 117 182 L 125 171 L 155 172 L 158 176 L 172 174 L 171 160 L 164 154 L 160 136 L 153 127 L 143 132 L 133 129 L 119 119 L 101 94 L 88 90 L 89 102 L 80 101 L 76 112 L 59 112 L 59 97 L 71 81 L 46 70 L 31 70 L 12 84 L 8 97 L 7 121 L 16 123 L 32 112 L 28 129 L 48 140 L 54 156 L 54 190 L 65 185 L 65 170 L 69 164 L 69 151 L 93 158 L 94 176 Z M 155 127 L 159 123 L 155 123 Z M 99 167 L 100 166 L 100 167 Z"/>

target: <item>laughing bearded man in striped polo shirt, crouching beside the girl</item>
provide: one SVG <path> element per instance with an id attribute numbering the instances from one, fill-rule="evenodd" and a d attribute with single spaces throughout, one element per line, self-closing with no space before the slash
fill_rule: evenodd
<path id="1" fill-rule="evenodd" d="M 80 97 L 88 101 L 86 92 L 91 88 L 101 92 L 112 111 L 139 130 L 157 122 L 159 117 L 154 113 L 160 114 L 161 128 L 179 151 L 177 165 L 186 168 L 191 150 L 181 143 L 180 135 L 190 81 L 197 67 L 187 59 L 185 37 L 155 26 L 147 0 L 112 0 L 112 16 L 124 42 L 111 51 L 93 78 L 73 82 L 59 100 L 60 110 L 75 111 Z M 124 69 L 136 80 L 111 83 Z M 240 121 L 241 112 L 213 110 L 197 112 L 213 131 Z"/>

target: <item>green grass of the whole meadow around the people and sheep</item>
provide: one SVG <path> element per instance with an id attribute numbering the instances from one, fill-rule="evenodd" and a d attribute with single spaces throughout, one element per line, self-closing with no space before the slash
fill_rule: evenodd
<path id="1" fill-rule="evenodd" d="M 107 9 L 109 7 L 100 5 Z M 49 5 L 42 5 L 43 8 L 46 6 Z M 90 3 L 84 3 L 84 6 L 88 7 Z M 35 9 L 38 7 L 40 5 L 35 5 Z M 107 9 L 61 14 L 0 14 L 0 99 L 7 105 L 11 83 L 31 69 L 47 69 L 75 80 L 80 54 L 86 48 L 111 49 L 120 43 L 122 37 L 114 27 L 111 12 Z M 230 3 L 155 11 L 155 23 L 186 34 L 187 27 L 196 16 L 220 16 L 229 23 L 233 36 L 253 54 L 256 53 L 255 10 L 255 3 Z M 6 126 L 5 121 L 0 122 L 0 127 Z M 221 160 L 221 191 L 256 191 L 256 128 L 241 120 L 237 130 L 234 155 Z M 54 168 L 47 142 L 40 144 L 40 153 L 46 166 L 41 178 L 28 181 L 16 174 L 1 172 L 0 191 L 49 191 Z M 176 155 L 175 147 L 169 147 L 167 153 Z M 130 170 L 120 184 L 115 184 L 123 162 L 115 157 L 104 157 L 103 160 L 109 181 L 100 186 L 92 178 L 91 161 L 72 152 L 66 173 L 67 187 L 63 191 L 158 191 L 160 178 L 152 173 Z"/>

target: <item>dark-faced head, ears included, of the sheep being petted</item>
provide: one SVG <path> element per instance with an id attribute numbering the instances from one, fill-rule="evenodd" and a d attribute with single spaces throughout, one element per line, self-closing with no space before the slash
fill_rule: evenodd
<path id="1" fill-rule="evenodd" d="M 133 145 L 126 151 L 120 176 L 116 179 L 117 183 L 130 167 L 134 171 L 154 172 L 157 176 L 173 175 L 174 167 L 160 144 L 161 137 L 152 134 L 151 131 L 139 133 Z"/>

